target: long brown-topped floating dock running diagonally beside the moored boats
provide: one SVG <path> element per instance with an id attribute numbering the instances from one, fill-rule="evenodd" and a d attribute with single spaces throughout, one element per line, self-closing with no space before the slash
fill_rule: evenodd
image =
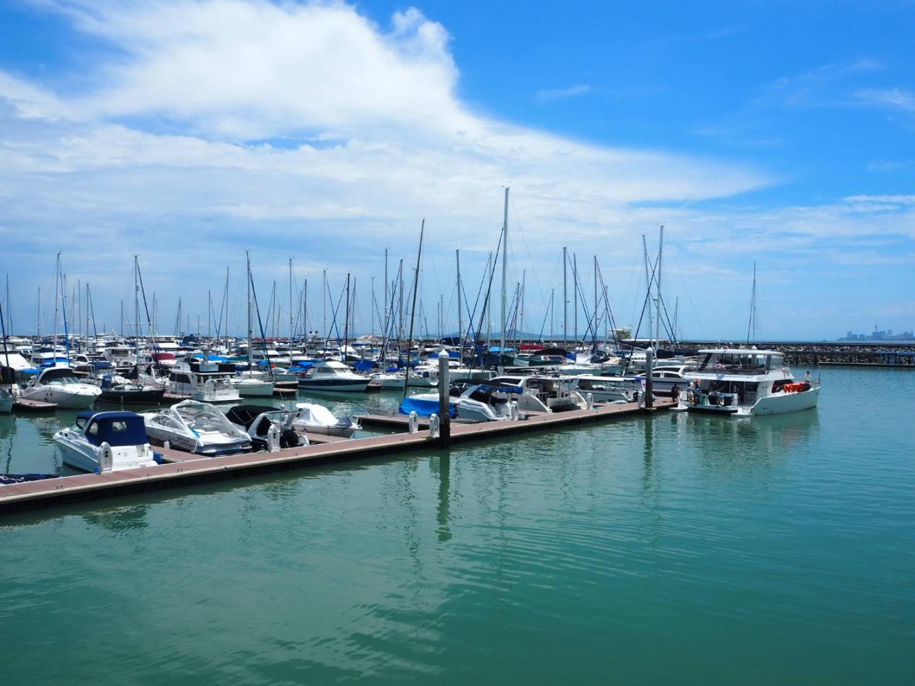
<path id="1" fill-rule="evenodd" d="M 451 444 L 494 440 L 503 436 L 548 429 L 573 428 L 623 417 L 668 410 L 673 401 L 659 399 L 646 410 L 634 402 L 596 406 L 591 410 L 548 413 L 516 422 L 452 423 Z M 441 440 L 427 430 L 415 434 L 388 434 L 369 438 L 339 439 L 336 436 L 309 434 L 311 445 L 285 448 L 274 453 L 246 453 L 223 457 L 201 457 L 177 450 L 163 451 L 167 464 L 139 469 L 124 469 L 104 474 L 81 474 L 21 484 L 0 486 L 0 513 L 19 509 L 53 507 L 64 503 L 111 498 L 160 488 L 178 488 L 204 481 L 361 460 L 373 456 L 389 458 L 397 453 L 436 450 Z"/>

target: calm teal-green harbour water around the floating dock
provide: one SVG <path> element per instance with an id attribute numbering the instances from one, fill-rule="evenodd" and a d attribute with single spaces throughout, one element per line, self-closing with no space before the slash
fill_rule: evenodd
<path id="1" fill-rule="evenodd" d="M 913 397 L 7 516 L 4 681 L 915 683 Z M 5 471 L 57 421 L 0 418 Z"/>

